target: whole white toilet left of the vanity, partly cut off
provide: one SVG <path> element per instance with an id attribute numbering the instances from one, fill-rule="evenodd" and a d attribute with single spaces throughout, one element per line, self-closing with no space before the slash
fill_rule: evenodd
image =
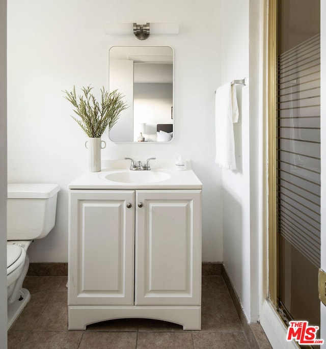
<path id="1" fill-rule="evenodd" d="M 7 303 L 8 329 L 29 302 L 22 283 L 29 269 L 27 249 L 46 236 L 56 222 L 58 184 L 8 184 L 7 201 Z"/>

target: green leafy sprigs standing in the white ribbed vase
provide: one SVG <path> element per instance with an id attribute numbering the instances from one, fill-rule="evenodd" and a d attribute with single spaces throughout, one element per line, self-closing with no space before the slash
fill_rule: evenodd
<path id="1" fill-rule="evenodd" d="M 108 126 L 110 131 L 112 126 L 118 121 L 120 113 L 127 109 L 128 106 L 123 102 L 124 97 L 118 90 L 112 91 L 110 94 L 101 89 L 101 103 L 99 103 L 91 93 L 93 87 L 90 85 L 83 87 L 84 95 L 76 97 L 76 90 L 73 87 L 71 92 L 63 91 L 65 98 L 75 107 L 73 110 L 79 118 L 71 116 L 80 127 L 83 128 L 86 135 L 91 138 L 101 137 L 105 128 Z"/>

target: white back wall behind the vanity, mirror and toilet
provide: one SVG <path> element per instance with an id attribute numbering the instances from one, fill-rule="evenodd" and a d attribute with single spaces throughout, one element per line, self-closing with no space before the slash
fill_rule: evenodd
<path id="1" fill-rule="evenodd" d="M 243 3 L 246 14 L 248 2 Z M 114 45 L 174 48 L 175 135 L 167 144 L 115 144 L 105 133 L 102 139 L 107 146 L 102 158 L 174 158 L 179 153 L 191 158 L 204 187 L 203 260 L 222 260 L 221 172 L 214 164 L 213 151 L 214 90 L 222 81 L 221 25 L 229 24 L 219 20 L 221 5 L 222 0 L 8 2 L 8 180 L 56 182 L 61 186 L 56 227 L 30 247 L 32 262 L 67 261 L 67 185 L 87 170 L 86 137 L 69 117 L 72 107 L 62 90 L 88 84 L 107 87 L 108 49 Z M 242 1 L 236 5 L 243 7 Z M 240 14 L 237 17 L 241 18 Z M 177 22 L 180 33 L 151 36 L 141 42 L 133 35 L 104 35 L 103 24 L 110 21 Z M 245 46 L 247 53 L 241 52 L 241 56 L 235 56 L 237 62 L 229 62 L 229 74 L 224 74 L 224 79 L 248 73 L 247 32 L 243 33 L 244 42 L 233 34 L 229 38 Z M 231 74 L 231 66 L 239 61 L 244 67 L 241 63 Z M 223 62 L 226 64 L 225 57 Z M 243 136 L 247 136 L 248 121 L 242 121 L 238 132 L 246 132 Z M 248 147 L 242 148 L 242 154 L 246 151 Z M 238 177 L 243 183 L 249 169 L 246 158 L 241 161 L 242 170 L 233 175 L 233 180 Z M 240 194 L 240 201 L 244 201 L 244 195 L 249 195 L 248 190 Z M 242 221 L 246 220 L 243 216 Z M 248 223 L 244 223 L 247 233 Z M 247 250 L 244 244 L 240 255 Z"/>

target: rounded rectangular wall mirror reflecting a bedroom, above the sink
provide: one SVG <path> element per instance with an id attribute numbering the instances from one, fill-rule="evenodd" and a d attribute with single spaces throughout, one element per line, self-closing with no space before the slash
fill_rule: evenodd
<path id="1" fill-rule="evenodd" d="M 109 52 L 109 89 L 129 106 L 110 131 L 114 142 L 170 142 L 173 138 L 173 49 L 114 46 Z"/>

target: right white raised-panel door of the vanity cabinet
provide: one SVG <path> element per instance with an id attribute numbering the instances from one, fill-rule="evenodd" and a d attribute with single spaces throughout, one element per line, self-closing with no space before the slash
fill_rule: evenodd
<path id="1" fill-rule="evenodd" d="M 200 305 L 201 191 L 140 190 L 135 206 L 135 304 Z"/>

